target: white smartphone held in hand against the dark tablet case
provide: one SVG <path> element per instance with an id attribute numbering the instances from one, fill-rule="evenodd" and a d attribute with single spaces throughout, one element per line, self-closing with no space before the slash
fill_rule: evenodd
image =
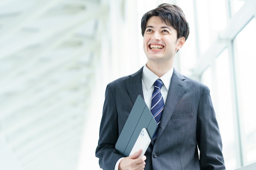
<path id="1" fill-rule="evenodd" d="M 150 139 L 150 136 L 148 135 L 148 131 L 146 130 L 146 128 L 142 128 L 130 152 L 130 155 L 134 154 L 135 152 L 141 149 L 142 152 L 141 152 L 141 155 L 139 155 L 139 157 L 142 157 L 145 154 L 146 150 L 148 149 L 150 142 L 151 142 L 151 139 Z"/>

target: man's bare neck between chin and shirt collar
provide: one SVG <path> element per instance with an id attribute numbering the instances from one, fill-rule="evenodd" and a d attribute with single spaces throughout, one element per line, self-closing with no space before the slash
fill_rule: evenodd
<path id="1" fill-rule="evenodd" d="M 146 66 L 150 71 L 155 73 L 155 75 L 157 75 L 158 77 L 162 77 L 165 73 L 171 70 L 171 68 L 173 67 L 173 64 L 172 63 L 156 64 L 154 62 L 152 63 L 148 61 L 146 63 Z"/>

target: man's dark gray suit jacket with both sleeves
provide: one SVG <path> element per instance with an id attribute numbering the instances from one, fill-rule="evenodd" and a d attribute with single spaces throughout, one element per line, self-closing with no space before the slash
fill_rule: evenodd
<path id="1" fill-rule="evenodd" d="M 113 170 L 122 157 L 115 144 L 137 96 L 143 96 L 141 76 L 142 68 L 106 88 L 96 149 L 103 170 Z M 207 86 L 173 71 L 157 139 L 145 155 L 145 170 L 225 170 L 222 141 Z"/>

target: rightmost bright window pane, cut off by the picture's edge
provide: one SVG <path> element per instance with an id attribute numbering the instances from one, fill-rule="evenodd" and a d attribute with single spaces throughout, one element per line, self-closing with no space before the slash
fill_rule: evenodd
<path id="1" fill-rule="evenodd" d="M 238 109 L 243 135 L 244 164 L 256 161 L 256 20 L 251 20 L 234 40 Z"/>

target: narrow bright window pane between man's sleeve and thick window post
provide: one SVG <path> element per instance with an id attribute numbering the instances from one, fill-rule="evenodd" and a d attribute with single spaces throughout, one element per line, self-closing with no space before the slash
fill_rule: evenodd
<path id="1" fill-rule="evenodd" d="M 233 112 L 230 77 L 229 53 L 225 49 L 216 58 L 216 116 L 222 136 L 226 168 L 231 170 L 237 167 L 237 147 L 234 134 L 234 117 L 236 115 Z"/>

